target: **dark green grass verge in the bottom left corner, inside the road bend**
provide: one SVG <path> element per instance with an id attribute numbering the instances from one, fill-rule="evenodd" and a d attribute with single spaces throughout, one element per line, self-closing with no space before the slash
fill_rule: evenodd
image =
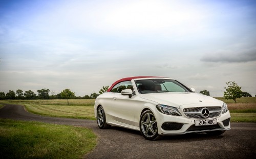
<path id="1" fill-rule="evenodd" d="M 0 119 L 1 158 L 82 158 L 97 143 L 92 130 Z"/>

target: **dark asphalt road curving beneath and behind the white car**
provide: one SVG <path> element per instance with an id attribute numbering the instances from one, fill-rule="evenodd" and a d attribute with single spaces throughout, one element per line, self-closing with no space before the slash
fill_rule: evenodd
<path id="1" fill-rule="evenodd" d="M 139 131 L 115 126 L 101 130 L 96 121 L 34 115 L 22 105 L 6 104 L 0 118 L 91 128 L 98 145 L 84 158 L 256 158 L 256 123 L 231 123 L 231 130 L 221 136 L 201 133 L 147 141 Z"/>

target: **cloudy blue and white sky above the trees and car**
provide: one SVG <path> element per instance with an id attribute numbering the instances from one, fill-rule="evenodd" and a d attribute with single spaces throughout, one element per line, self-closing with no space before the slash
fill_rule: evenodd
<path id="1" fill-rule="evenodd" d="M 0 92 L 98 93 L 123 77 L 256 94 L 256 1 L 0 0 Z"/>

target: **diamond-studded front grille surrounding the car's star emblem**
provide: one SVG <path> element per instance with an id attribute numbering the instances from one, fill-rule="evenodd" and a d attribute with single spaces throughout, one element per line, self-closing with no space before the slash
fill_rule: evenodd
<path id="1" fill-rule="evenodd" d="M 204 118 L 201 116 L 201 110 L 203 108 L 207 108 L 209 110 L 209 116 Z M 221 114 L 221 107 L 195 107 L 195 108 L 185 108 L 183 110 L 184 114 L 188 118 L 192 119 L 207 119 L 207 118 L 215 118 Z"/>

